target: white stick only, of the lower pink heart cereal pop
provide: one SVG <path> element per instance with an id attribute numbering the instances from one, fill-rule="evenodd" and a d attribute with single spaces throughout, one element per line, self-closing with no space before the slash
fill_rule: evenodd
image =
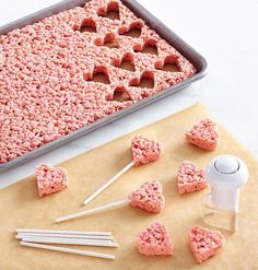
<path id="1" fill-rule="evenodd" d="M 126 200 L 122 200 L 122 201 L 112 202 L 112 203 L 108 203 L 108 204 L 105 204 L 105 206 L 102 206 L 102 207 L 97 207 L 97 208 L 94 208 L 94 209 L 91 209 L 91 210 L 85 210 L 85 211 L 78 212 L 75 214 L 70 214 L 70 215 L 66 215 L 66 216 L 62 216 L 62 218 L 58 218 L 55 221 L 57 223 L 59 223 L 59 222 L 63 222 L 63 221 L 68 221 L 68 220 L 73 220 L 73 219 L 77 219 L 77 218 L 80 218 L 80 216 L 94 214 L 94 213 L 101 212 L 103 210 L 112 209 L 112 208 L 115 208 L 115 207 L 118 207 L 118 206 L 125 206 L 125 204 L 130 203 L 130 201 L 131 201 L 130 199 L 126 199 Z"/>

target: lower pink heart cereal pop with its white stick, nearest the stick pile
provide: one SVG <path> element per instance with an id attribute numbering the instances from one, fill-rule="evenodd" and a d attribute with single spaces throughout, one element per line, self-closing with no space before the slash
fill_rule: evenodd
<path id="1" fill-rule="evenodd" d="M 97 213 L 103 210 L 107 210 L 125 204 L 130 204 L 131 207 L 140 208 L 152 213 L 157 213 L 162 211 L 165 207 L 165 197 L 162 193 L 162 185 L 156 180 L 146 181 L 140 188 L 133 190 L 129 195 L 128 199 L 112 202 L 98 208 L 81 211 L 62 218 L 58 218 L 56 219 L 56 222 L 59 223 L 85 215 L 91 215 L 93 213 Z"/>

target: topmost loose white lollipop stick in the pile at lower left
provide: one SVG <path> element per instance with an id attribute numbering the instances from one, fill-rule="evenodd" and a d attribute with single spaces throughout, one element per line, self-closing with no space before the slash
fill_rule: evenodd
<path id="1" fill-rule="evenodd" d="M 37 233 L 37 234 L 69 234 L 69 235 L 106 235 L 110 232 L 89 232 L 89 231 L 59 231 L 59 230 L 38 230 L 38 228 L 16 228 L 16 233 Z"/>

